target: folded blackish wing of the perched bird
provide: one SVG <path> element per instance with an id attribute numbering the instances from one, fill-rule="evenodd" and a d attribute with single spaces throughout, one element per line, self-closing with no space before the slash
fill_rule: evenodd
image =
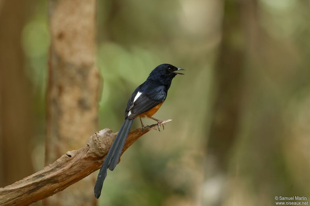
<path id="1" fill-rule="evenodd" d="M 130 111 L 131 113 L 128 116 L 129 119 L 134 119 L 135 117 L 152 109 L 157 104 L 162 103 L 163 101 L 165 101 L 167 96 L 167 91 L 164 86 L 157 86 L 156 88 L 152 88 L 151 91 L 150 90 L 144 90 L 144 91 L 143 90 L 139 91 L 142 92 L 142 94 L 130 105 L 130 107 L 126 109 L 128 112 Z"/>

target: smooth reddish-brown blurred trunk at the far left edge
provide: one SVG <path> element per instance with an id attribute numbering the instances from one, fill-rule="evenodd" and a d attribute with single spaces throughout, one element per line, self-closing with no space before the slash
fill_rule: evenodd
<path id="1" fill-rule="evenodd" d="M 21 48 L 27 5 L 24 0 L 0 3 L 0 187 L 33 173 L 32 93 Z"/>

